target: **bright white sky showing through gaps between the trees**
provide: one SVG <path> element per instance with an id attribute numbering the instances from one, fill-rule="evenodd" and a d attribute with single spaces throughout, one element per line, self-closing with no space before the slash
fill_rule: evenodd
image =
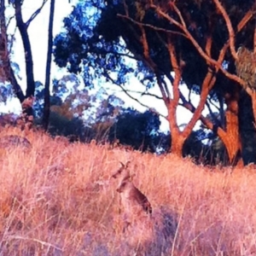
<path id="1" fill-rule="evenodd" d="M 24 20 L 28 20 L 29 17 L 34 13 L 36 9 L 41 5 L 43 0 L 24 0 L 22 14 Z M 29 38 L 31 40 L 32 45 L 32 55 L 33 55 L 33 63 L 34 63 L 34 76 L 35 80 L 39 80 L 44 84 L 45 79 L 45 65 L 46 65 L 46 56 L 47 56 L 47 42 L 48 42 L 48 25 L 49 25 L 49 0 L 48 3 L 44 5 L 44 9 L 42 9 L 41 13 L 32 20 L 29 28 Z M 77 1 L 72 0 L 72 3 L 69 3 L 69 0 L 55 0 L 55 20 L 54 20 L 54 36 L 61 32 L 62 28 L 62 20 L 72 11 L 73 5 Z M 15 20 L 9 26 L 9 32 L 15 31 Z M 17 62 L 20 65 L 20 84 L 23 90 L 26 90 L 26 72 L 25 72 L 25 58 L 24 58 L 24 50 L 22 46 L 22 41 L 20 38 L 20 32 L 16 30 L 15 32 L 15 44 L 13 48 L 14 58 L 13 61 Z M 52 63 L 51 67 L 51 79 L 61 79 L 63 74 L 65 74 L 65 70 L 56 67 L 55 63 Z M 136 89 L 134 84 L 137 84 Z M 136 79 L 131 80 L 131 84 L 128 84 L 127 87 L 131 90 L 140 90 L 143 92 L 143 86 L 140 85 Z M 124 92 L 120 92 L 120 89 L 113 84 L 107 84 L 106 89 L 109 94 L 114 93 L 116 96 L 119 96 L 121 99 L 125 101 L 125 107 L 134 107 L 139 111 L 145 111 L 147 108 L 142 107 L 139 103 L 132 101 L 128 96 L 125 95 Z M 186 90 L 185 86 L 181 86 L 181 90 L 185 96 L 188 96 L 188 90 Z M 160 96 L 160 90 L 157 86 L 149 91 L 152 94 Z M 92 91 L 94 93 L 94 91 Z M 143 104 L 147 105 L 149 108 L 155 108 L 158 112 L 163 115 L 167 114 L 167 109 L 163 101 L 156 100 L 150 96 L 140 97 L 138 94 L 133 94 L 136 96 L 139 101 L 143 102 Z M 197 104 L 199 101 L 199 96 L 195 94 L 192 95 L 192 102 Z M 2 108 L 2 106 L 1 106 Z M 6 112 L 19 112 L 20 111 L 20 102 L 16 99 L 15 102 L 8 104 L 8 107 L 5 107 Z M 4 111 L 4 109 L 1 109 Z M 205 110 L 204 113 L 207 113 Z M 191 113 L 182 108 L 178 107 L 177 109 L 177 124 L 183 125 L 187 123 L 191 118 Z M 199 127 L 200 123 L 196 126 Z M 162 131 L 168 130 L 168 122 L 166 119 L 161 118 L 161 126 Z"/>

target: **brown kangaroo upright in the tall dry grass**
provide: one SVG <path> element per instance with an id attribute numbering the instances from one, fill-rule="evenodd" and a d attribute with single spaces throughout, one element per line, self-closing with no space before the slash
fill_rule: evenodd
<path id="1" fill-rule="evenodd" d="M 132 218 L 135 217 L 136 219 L 136 216 L 141 215 L 143 212 L 152 213 L 148 198 L 132 183 L 134 175 L 131 175 L 128 170 L 129 164 L 130 162 L 125 165 L 121 163 L 119 170 L 112 176 L 119 179 L 119 186 L 116 191 L 120 193 L 121 203 L 125 209 L 125 227 L 123 231 L 131 224 Z"/>

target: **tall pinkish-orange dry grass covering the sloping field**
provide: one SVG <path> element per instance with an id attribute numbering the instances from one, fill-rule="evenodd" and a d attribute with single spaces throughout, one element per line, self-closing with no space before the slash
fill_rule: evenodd
<path id="1" fill-rule="evenodd" d="M 6 134 L 22 136 L 8 130 L 0 137 Z M 212 172 L 172 154 L 68 144 L 40 132 L 26 137 L 30 150 L 0 152 L 0 255 L 256 254 L 253 166 Z M 121 232 L 117 184 L 110 179 L 119 160 L 131 160 L 154 218 L 177 218 L 170 241 L 148 220 Z"/>

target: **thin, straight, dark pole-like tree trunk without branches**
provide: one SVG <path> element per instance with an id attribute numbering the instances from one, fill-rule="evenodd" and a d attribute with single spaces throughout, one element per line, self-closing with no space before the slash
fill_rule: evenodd
<path id="1" fill-rule="evenodd" d="M 44 86 L 44 116 L 43 126 L 44 130 L 47 131 L 49 125 L 49 83 L 50 83 L 50 67 L 51 67 L 51 55 L 53 45 L 53 22 L 54 22 L 54 11 L 55 11 L 55 0 L 50 1 L 49 9 L 49 30 L 48 30 L 48 53 L 46 62 L 46 73 L 45 73 L 45 86 Z"/>

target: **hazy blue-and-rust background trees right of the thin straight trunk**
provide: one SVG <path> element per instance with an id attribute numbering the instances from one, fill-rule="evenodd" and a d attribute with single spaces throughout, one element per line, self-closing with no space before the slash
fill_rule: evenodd
<path id="1" fill-rule="evenodd" d="M 39 96 L 38 93 L 38 99 Z M 54 81 L 50 103 L 49 132 L 83 142 L 107 141 L 108 131 L 124 104 L 117 96 L 108 96 L 103 89 L 95 95 L 81 89 L 78 77 L 73 74 Z"/>

